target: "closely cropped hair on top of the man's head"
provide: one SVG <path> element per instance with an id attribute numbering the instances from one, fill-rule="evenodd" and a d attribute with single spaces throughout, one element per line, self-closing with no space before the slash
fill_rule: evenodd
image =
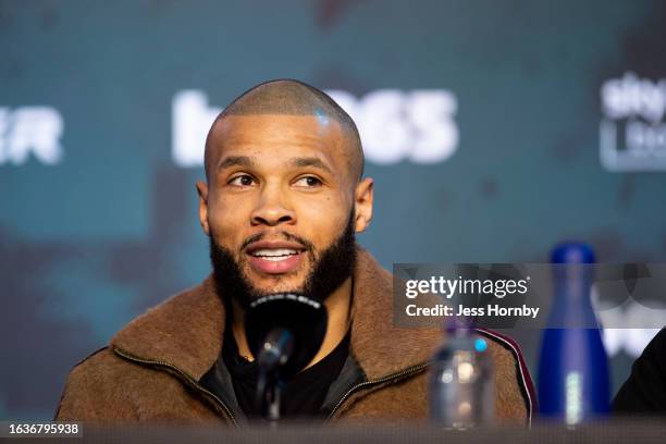
<path id="1" fill-rule="evenodd" d="M 363 152 L 356 124 L 333 99 L 323 91 L 293 79 L 270 81 L 252 87 L 232 101 L 215 119 L 206 139 L 205 168 L 210 177 L 212 162 L 218 159 L 219 143 L 213 139 L 215 127 L 231 115 L 304 115 L 322 124 L 334 121 L 345 137 L 349 176 L 355 183 L 363 174 Z"/>

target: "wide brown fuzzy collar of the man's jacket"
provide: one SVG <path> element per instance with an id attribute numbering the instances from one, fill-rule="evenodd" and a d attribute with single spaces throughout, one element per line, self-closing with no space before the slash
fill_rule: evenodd
<path id="1" fill-rule="evenodd" d="M 358 247 L 351 303 L 351 353 L 369 379 L 424 362 L 441 340 L 439 329 L 393 324 L 393 278 Z M 138 317 L 111 346 L 135 357 L 163 361 L 199 380 L 220 355 L 224 306 L 212 278 Z"/>

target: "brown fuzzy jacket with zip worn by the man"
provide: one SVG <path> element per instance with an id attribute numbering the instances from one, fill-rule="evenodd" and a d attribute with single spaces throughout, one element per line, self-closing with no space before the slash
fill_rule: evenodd
<path id="1" fill-rule="evenodd" d="M 350 356 L 365 374 L 362 382 L 337 393 L 331 420 L 394 422 L 428 416 L 428 360 L 441 331 L 394 326 L 392 285 L 391 273 L 359 249 Z M 243 423 L 233 402 L 200 383 L 220 355 L 224 319 L 211 278 L 148 310 L 74 367 L 55 419 Z M 492 340 L 496 415 L 528 423 L 533 394 L 520 353 L 515 344 L 485 334 Z"/>

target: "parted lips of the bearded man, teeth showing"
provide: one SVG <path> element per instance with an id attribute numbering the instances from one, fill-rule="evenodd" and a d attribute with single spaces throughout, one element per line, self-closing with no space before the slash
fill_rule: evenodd
<path id="1" fill-rule="evenodd" d="M 305 247 L 284 240 L 261 240 L 251 244 L 246 252 L 251 268 L 259 273 L 282 274 L 298 269 Z"/>

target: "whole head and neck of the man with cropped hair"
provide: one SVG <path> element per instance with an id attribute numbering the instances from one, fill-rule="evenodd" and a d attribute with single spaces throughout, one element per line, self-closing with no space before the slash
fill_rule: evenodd
<path id="1" fill-rule="evenodd" d="M 344 337 L 355 235 L 372 219 L 374 181 L 362 171 L 356 125 L 304 83 L 258 85 L 218 115 L 206 139 L 208 182 L 196 187 L 215 279 L 238 313 L 235 335 L 248 301 L 293 293 L 326 304 L 328 349 Z"/>

